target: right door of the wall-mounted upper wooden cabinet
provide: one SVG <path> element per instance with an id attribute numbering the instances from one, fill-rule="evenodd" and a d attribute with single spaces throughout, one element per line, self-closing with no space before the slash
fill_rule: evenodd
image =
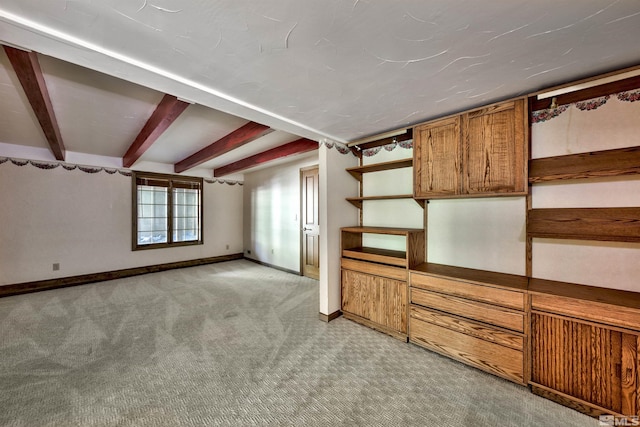
<path id="1" fill-rule="evenodd" d="M 523 99 L 462 116 L 465 193 L 526 192 L 525 126 Z"/>

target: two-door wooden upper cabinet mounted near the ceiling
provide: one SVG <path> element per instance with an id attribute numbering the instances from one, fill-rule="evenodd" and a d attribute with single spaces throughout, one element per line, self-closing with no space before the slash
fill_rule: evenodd
<path id="1" fill-rule="evenodd" d="M 527 127 L 524 99 L 416 126 L 414 197 L 526 194 Z"/>

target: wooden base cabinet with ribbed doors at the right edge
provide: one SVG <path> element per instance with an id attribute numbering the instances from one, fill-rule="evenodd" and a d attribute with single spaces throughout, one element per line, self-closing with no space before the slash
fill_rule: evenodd
<path id="1" fill-rule="evenodd" d="M 534 393 L 592 416 L 640 415 L 640 295 L 531 279 Z"/>

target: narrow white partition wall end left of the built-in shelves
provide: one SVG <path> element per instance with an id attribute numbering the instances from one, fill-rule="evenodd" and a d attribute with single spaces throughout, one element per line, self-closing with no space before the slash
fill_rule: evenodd
<path id="1" fill-rule="evenodd" d="M 345 200 L 358 195 L 358 181 L 345 171 L 353 166 L 358 166 L 353 154 L 320 145 L 320 313 L 325 315 L 341 308 L 340 228 L 358 225 L 358 209 Z"/>

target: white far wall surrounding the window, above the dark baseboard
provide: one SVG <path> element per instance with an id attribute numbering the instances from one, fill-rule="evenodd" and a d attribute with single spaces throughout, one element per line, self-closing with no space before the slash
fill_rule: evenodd
<path id="1" fill-rule="evenodd" d="M 242 252 L 239 184 L 204 184 L 204 245 L 143 251 L 131 250 L 131 177 L 8 161 L 0 200 L 0 285 Z"/>

